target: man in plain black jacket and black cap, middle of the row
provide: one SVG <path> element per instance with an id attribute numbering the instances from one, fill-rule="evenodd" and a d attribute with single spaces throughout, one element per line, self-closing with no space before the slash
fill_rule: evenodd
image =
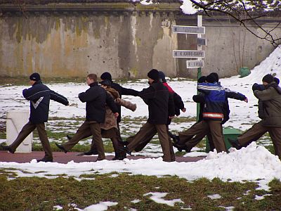
<path id="1" fill-rule="evenodd" d="M 131 155 L 131 152 L 136 147 L 147 141 L 147 137 L 153 137 L 157 133 L 164 154 L 163 161 L 171 162 L 174 161 L 174 158 L 172 158 L 174 151 L 167 133 L 166 124 L 168 117 L 171 118 L 175 115 L 174 100 L 169 94 L 169 90 L 159 81 L 158 70 L 152 69 L 148 72 L 148 82 L 150 87 L 143 89 L 138 94 L 148 105 L 148 121 L 133 136 L 133 140 L 129 141 L 126 147 L 123 147 L 123 150 Z"/>

